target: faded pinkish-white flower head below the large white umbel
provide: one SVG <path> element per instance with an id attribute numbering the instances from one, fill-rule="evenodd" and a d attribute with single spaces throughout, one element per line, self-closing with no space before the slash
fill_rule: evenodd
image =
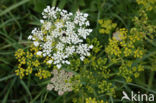
<path id="1" fill-rule="evenodd" d="M 72 83 L 70 83 L 70 79 L 73 76 L 72 72 L 65 72 L 64 70 L 58 71 L 55 69 L 52 74 L 54 76 L 47 85 L 47 90 L 51 91 L 54 89 L 58 92 L 58 95 L 72 91 Z"/>

